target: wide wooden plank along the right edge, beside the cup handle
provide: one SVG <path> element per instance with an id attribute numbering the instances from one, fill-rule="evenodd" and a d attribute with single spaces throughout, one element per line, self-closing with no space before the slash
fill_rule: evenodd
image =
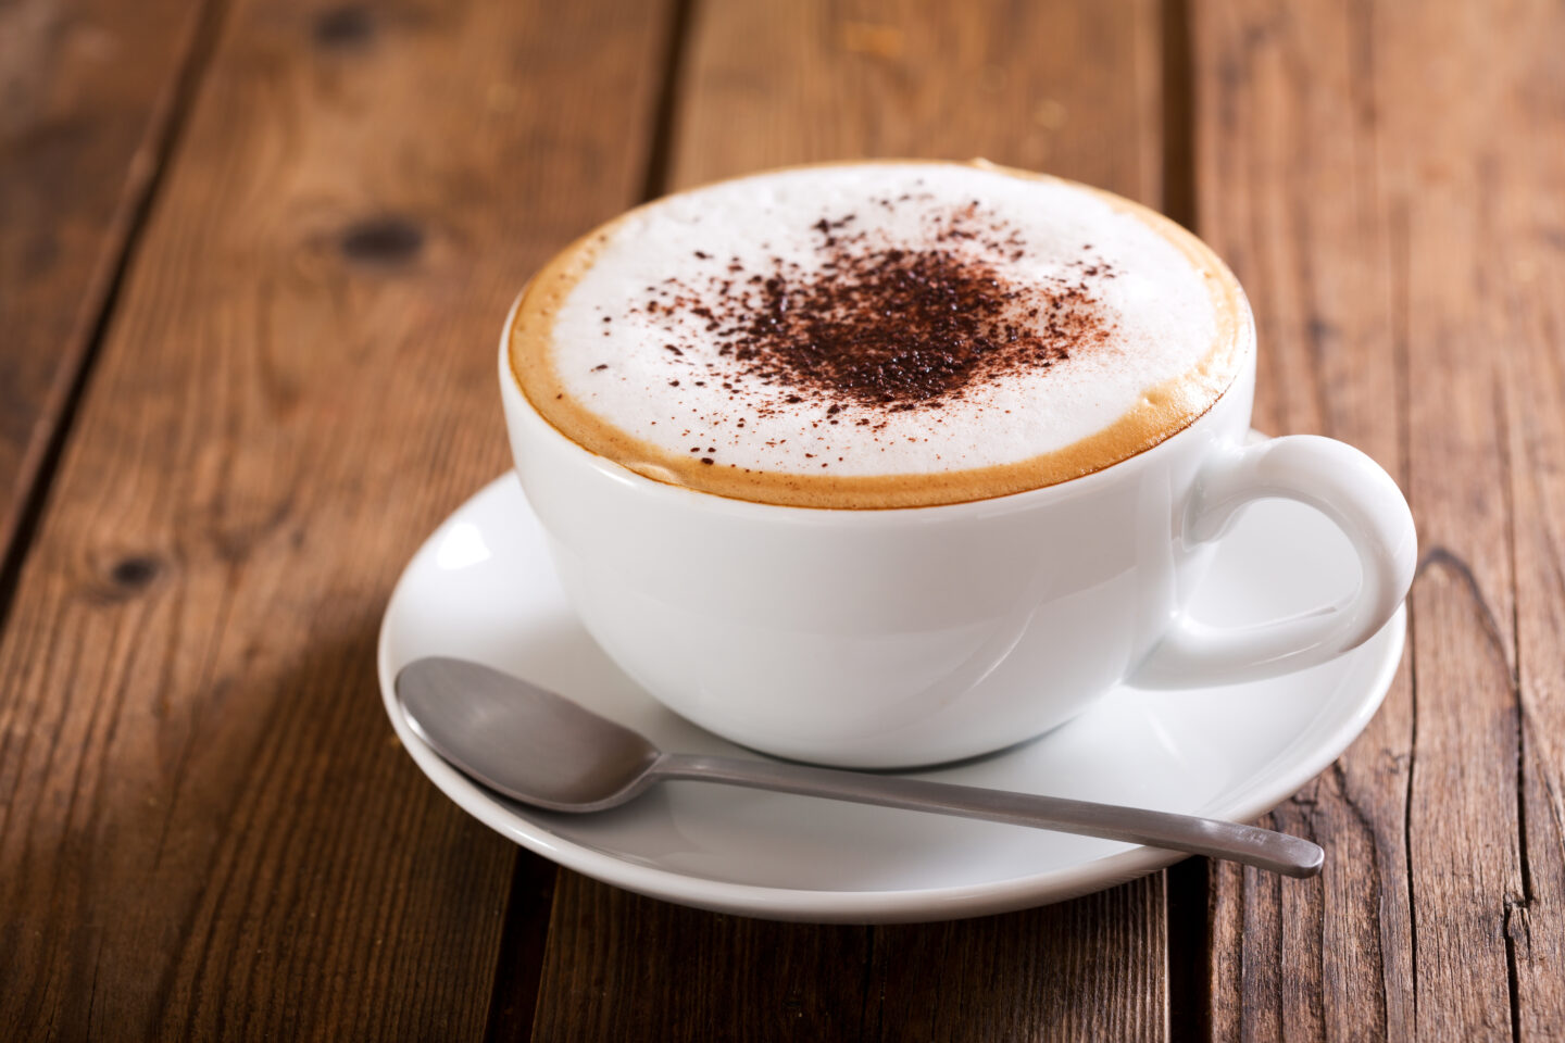
<path id="1" fill-rule="evenodd" d="M 1200 228 L 1261 316 L 1263 422 L 1379 457 L 1424 550 L 1387 707 L 1279 816 L 1315 830 L 1326 876 L 1293 899 L 1216 877 L 1211 1035 L 1552 1038 L 1559 934 L 1537 924 L 1559 916 L 1562 762 L 1542 680 L 1559 663 L 1559 544 L 1537 527 L 1557 496 L 1537 475 L 1559 444 L 1538 419 L 1560 402 L 1559 288 L 1516 288 L 1501 258 L 1559 263 L 1559 13 L 1194 14 Z M 1534 141 L 1556 166 L 1516 180 Z M 1534 685 L 1520 718 L 1518 666 Z"/>

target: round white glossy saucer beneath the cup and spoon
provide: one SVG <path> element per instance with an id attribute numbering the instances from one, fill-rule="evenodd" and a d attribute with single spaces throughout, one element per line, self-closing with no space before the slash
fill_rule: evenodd
<path id="1" fill-rule="evenodd" d="M 1286 547 L 1286 554 L 1279 549 Z M 1261 621 L 1357 583 L 1347 541 L 1308 508 L 1250 508 L 1196 599 L 1211 622 Z M 1122 688 L 1033 743 L 925 772 L 972 785 L 1252 821 L 1322 771 L 1380 705 L 1404 616 L 1358 651 L 1282 680 Z M 592 707 L 664 749 L 756 757 L 675 716 L 571 615 L 515 475 L 435 532 L 380 627 L 380 688 L 419 769 L 468 813 L 546 858 L 642 894 L 776 919 L 892 923 L 1056 902 L 1177 862 L 1133 844 L 939 815 L 676 782 L 615 812 L 535 812 L 480 790 L 407 727 L 396 671 L 424 655 L 488 663 Z"/>

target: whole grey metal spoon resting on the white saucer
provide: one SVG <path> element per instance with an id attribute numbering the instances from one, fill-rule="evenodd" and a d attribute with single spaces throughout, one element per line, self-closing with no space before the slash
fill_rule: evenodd
<path id="1" fill-rule="evenodd" d="M 833 768 L 665 754 L 637 732 L 563 696 L 465 660 L 410 663 L 398 674 L 396 694 L 418 737 L 455 768 L 498 793 L 552 812 L 603 812 L 635 799 L 654 782 L 695 779 L 1124 840 L 1286 876 L 1315 876 L 1326 858 L 1301 837 L 1191 815 Z"/>

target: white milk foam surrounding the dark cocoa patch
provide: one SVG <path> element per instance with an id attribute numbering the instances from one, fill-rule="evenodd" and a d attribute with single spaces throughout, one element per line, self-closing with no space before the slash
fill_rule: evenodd
<path id="1" fill-rule="evenodd" d="M 956 236 L 942 250 L 981 255 L 1009 285 L 1085 286 L 1103 319 L 1096 341 L 933 403 L 795 394 L 734 363 L 734 308 L 714 317 L 707 306 L 725 278 L 757 292 L 773 271 L 829 278 L 831 222 L 862 249 L 916 250 L 961 213 L 991 247 Z M 632 211 L 590 249 L 549 328 L 557 386 L 656 453 L 707 469 L 862 477 L 1025 461 L 1103 432 L 1149 391 L 1199 371 L 1222 333 L 1216 261 L 1111 197 L 984 166 L 869 163 L 725 181 Z M 1025 311 L 1017 321 L 1024 333 L 1044 322 Z"/>

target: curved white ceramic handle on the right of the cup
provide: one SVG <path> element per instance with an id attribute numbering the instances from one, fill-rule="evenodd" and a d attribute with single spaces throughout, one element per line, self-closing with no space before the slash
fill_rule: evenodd
<path id="1" fill-rule="evenodd" d="M 1358 552 L 1358 590 L 1335 605 L 1249 627 L 1213 627 L 1183 610 L 1130 683 L 1186 688 L 1290 674 L 1368 641 L 1413 582 L 1413 514 L 1380 466 L 1346 443 L 1313 435 L 1233 446 L 1210 460 L 1185 508 L 1186 547 L 1221 539 L 1239 508 L 1263 499 L 1308 504 Z"/>

